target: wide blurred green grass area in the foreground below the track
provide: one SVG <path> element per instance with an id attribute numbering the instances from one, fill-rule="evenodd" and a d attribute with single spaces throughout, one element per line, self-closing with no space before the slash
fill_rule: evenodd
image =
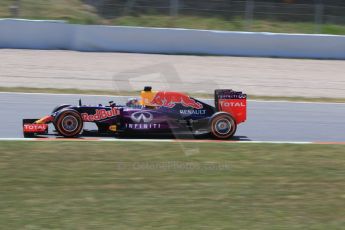
<path id="1" fill-rule="evenodd" d="M 343 229 L 344 152 L 341 145 L 0 142 L 0 226 Z"/>

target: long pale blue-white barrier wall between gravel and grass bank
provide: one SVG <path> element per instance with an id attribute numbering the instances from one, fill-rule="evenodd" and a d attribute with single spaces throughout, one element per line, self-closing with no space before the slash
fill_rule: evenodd
<path id="1" fill-rule="evenodd" d="M 0 48 L 345 59 L 345 36 L 0 20 Z"/>

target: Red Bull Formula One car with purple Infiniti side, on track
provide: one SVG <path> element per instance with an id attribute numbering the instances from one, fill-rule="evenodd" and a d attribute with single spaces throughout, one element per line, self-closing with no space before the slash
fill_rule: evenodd
<path id="1" fill-rule="evenodd" d="M 108 106 L 60 105 L 49 116 L 24 119 L 24 137 L 48 134 L 48 124 L 55 134 L 67 138 L 87 133 L 97 135 L 211 134 L 216 139 L 231 138 L 237 125 L 246 120 L 247 95 L 233 90 L 215 90 L 215 106 L 186 94 L 152 91 L 145 87 L 141 99 L 131 99 L 126 105 L 109 102 Z M 96 124 L 97 130 L 84 129 L 84 123 Z"/>

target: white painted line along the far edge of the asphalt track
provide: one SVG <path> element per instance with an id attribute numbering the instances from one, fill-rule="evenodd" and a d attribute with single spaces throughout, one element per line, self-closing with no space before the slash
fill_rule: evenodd
<path id="1" fill-rule="evenodd" d="M 0 94 L 14 94 L 14 95 L 50 95 L 50 96 L 80 96 L 80 97 L 112 97 L 112 98 L 128 98 L 133 96 L 119 96 L 119 95 L 97 95 L 97 94 L 73 94 L 73 93 L 21 93 L 21 92 L 0 92 Z M 199 98 L 200 100 L 213 100 L 211 98 Z M 286 101 L 286 100 L 250 100 L 251 102 L 260 103 L 295 103 L 295 104 L 328 104 L 341 105 L 342 102 L 317 102 L 317 101 Z"/>

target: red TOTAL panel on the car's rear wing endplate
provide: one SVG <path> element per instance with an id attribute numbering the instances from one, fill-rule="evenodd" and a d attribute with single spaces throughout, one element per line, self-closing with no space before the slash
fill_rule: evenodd
<path id="1" fill-rule="evenodd" d="M 219 99 L 218 110 L 230 113 L 237 124 L 245 122 L 247 119 L 247 99 Z"/>

